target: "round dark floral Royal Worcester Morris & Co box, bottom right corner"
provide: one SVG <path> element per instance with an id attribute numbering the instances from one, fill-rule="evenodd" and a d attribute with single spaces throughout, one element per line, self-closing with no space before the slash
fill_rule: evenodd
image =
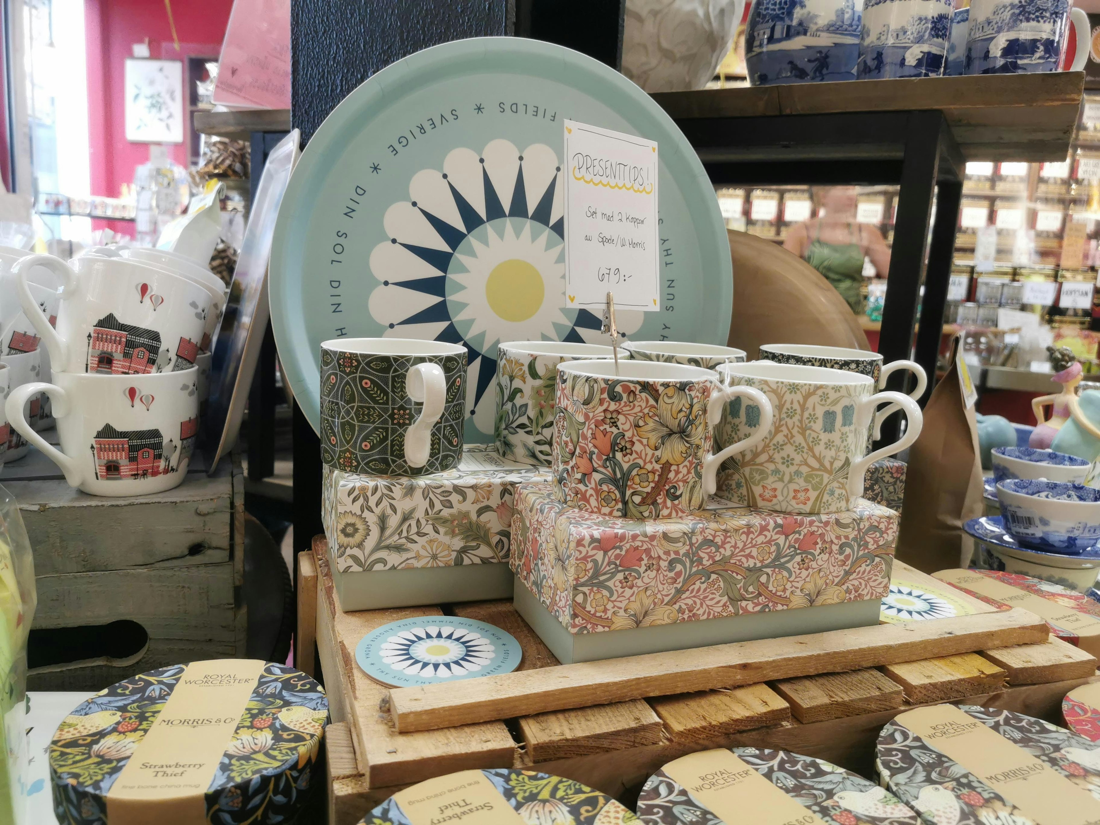
<path id="1" fill-rule="evenodd" d="M 931 705 L 879 734 L 883 784 L 939 825 L 1100 821 L 1100 746 L 1012 711 Z"/>

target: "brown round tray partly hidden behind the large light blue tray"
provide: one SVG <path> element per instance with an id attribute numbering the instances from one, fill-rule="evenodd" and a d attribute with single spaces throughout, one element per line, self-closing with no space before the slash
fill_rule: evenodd
<path id="1" fill-rule="evenodd" d="M 761 344 L 870 350 L 840 294 L 813 266 L 771 241 L 730 230 L 734 314 L 729 346 L 759 356 Z"/>

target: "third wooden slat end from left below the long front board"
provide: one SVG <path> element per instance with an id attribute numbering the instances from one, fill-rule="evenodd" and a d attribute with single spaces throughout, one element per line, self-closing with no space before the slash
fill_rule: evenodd
<path id="1" fill-rule="evenodd" d="M 705 741 L 791 718 L 791 707 L 766 684 L 649 700 L 676 741 Z"/>

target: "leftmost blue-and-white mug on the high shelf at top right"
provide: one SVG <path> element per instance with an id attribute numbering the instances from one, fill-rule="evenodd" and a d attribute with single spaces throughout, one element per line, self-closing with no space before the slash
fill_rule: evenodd
<path id="1" fill-rule="evenodd" d="M 745 29 L 752 86 L 855 80 L 864 0 L 755 0 Z"/>

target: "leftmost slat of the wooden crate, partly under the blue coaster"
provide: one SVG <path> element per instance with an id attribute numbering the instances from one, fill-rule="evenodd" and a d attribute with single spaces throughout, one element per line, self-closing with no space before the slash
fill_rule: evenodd
<path id="1" fill-rule="evenodd" d="M 332 586 L 323 536 L 314 539 L 317 562 L 318 626 L 321 667 L 333 722 L 348 722 L 360 769 L 371 788 L 420 782 L 468 768 L 508 768 L 516 744 L 503 723 L 454 727 L 415 736 L 398 736 L 378 712 L 386 689 L 367 679 L 355 664 L 354 646 L 371 630 L 389 622 L 438 615 L 431 607 L 344 613 Z M 364 812 L 365 813 L 365 812 Z"/>

